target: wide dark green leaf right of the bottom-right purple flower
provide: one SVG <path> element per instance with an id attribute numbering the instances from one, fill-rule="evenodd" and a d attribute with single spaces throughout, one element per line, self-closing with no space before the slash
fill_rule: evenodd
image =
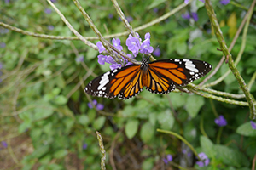
<path id="1" fill-rule="evenodd" d="M 249 165 L 247 157 L 242 155 L 239 150 L 230 149 L 224 145 L 215 145 L 212 149 L 217 153 L 216 158 L 226 165 L 234 167 L 247 167 Z"/>

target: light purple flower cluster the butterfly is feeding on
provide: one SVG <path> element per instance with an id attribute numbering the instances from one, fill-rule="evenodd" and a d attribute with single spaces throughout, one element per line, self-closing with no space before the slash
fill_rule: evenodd
<path id="1" fill-rule="evenodd" d="M 129 51 L 131 51 L 131 54 L 127 54 L 130 58 L 135 58 L 138 53 L 142 54 L 150 54 L 153 52 L 154 48 L 150 46 L 150 34 L 145 34 L 145 40 L 142 42 L 142 39 L 139 37 L 138 33 L 136 33 L 137 37 L 132 37 L 129 35 L 129 37 L 126 40 L 126 46 Z M 114 48 L 117 48 L 119 51 L 123 50 L 123 47 L 121 46 L 121 41 L 119 38 L 113 38 L 112 44 Z M 99 50 L 99 53 L 102 53 L 106 50 L 106 48 L 103 46 L 102 42 L 97 42 L 96 46 Z M 111 64 L 110 69 L 114 70 L 116 68 L 121 67 L 122 65 L 119 63 L 125 63 L 125 65 L 131 65 L 131 62 L 128 62 L 127 59 L 123 57 L 123 59 L 119 59 L 119 63 L 116 62 L 116 60 L 113 59 L 113 57 L 109 55 L 98 55 L 98 63 L 100 65 L 104 65 L 105 63 Z"/>

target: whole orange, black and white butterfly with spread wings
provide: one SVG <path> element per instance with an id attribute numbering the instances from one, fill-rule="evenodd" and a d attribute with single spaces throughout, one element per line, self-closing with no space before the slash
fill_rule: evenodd
<path id="1" fill-rule="evenodd" d="M 153 94 L 167 94 L 177 86 L 185 86 L 205 76 L 211 70 L 212 65 L 197 59 L 148 62 L 143 58 L 142 65 L 127 65 L 96 77 L 84 91 L 109 99 L 130 99 L 143 91 L 143 87 Z"/>

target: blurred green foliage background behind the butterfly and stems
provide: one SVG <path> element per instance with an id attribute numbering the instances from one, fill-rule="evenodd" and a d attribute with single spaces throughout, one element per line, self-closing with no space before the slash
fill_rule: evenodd
<path id="1" fill-rule="evenodd" d="M 103 36 L 126 31 L 111 1 L 80 3 Z M 129 0 L 119 2 L 119 6 L 125 16 L 133 18 L 130 24 L 136 28 L 181 3 L 183 1 Z M 218 0 L 212 0 L 228 45 L 251 3 L 238 0 L 224 6 Z M 55 6 L 81 35 L 95 37 L 72 1 L 57 1 Z M 46 14 L 46 8 L 52 12 Z M 154 12 L 155 8 L 157 12 Z M 181 15 L 193 8 L 198 8 L 199 20 L 184 20 Z M 113 18 L 109 14 L 113 14 Z M 2 1 L 0 21 L 39 34 L 73 36 L 59 15 L 43 0 Z M 54 29 L 49 30 L 49 26 L 54 26 Z M 138 31 L 141 37 L 146 32 L 151 34 L 151 45 L 160 48 L 161 55 L 157 59 L 201 59 L 215 67 L 223 55 L 217 50 L 218 41 L 212 32 L 204 3 L 200 1 L 194 1 L 167 20 Z M 129 53 L 125 46 L 127 37 L 119 37 L 125 53 Z M 246 48 L 237 65 L 247 83 L 255 72 L 255 38 L 255 18 L 252 18 Z M 97 41 L 92 42 L 96 44 Z M 146 90 L 137 98 L 125 101 L 92 98 L 84 94 L 84 85 L 108 71 L 109 65 L 99 65 L 98 52 L 85 46 L 84 42 L 31 37 L 15 31 L 6 32 L 4 27 L 0 27 L 0 42 L 6 44 L 0 48 L 3 64 L 0 75 L 0 140 L 7 141 L 8 147 L 15 150 L 0 150 L 3 153 L 3 161 L 0 162 L 10 162 L 6 164 L 8 169 L 100 169 L 102 155 L 96 131 L 102 134 L 107 151 L 107 169 L 114 168 L 111 157 L 117 169 L 175 167 L 173 164 L 165 165 L 162 159 L 172 154 L 173 162 L 179 163 L 183 159 L 182 142 L 174 136 L 157 132 L 157 128 L 178 133 L 198 153 L 205 152 L 211 164 L 202 169 L 246 170 L 255 164 L 256 131 L 250 126 L 247 106 L 230 105 L 196 94 L 159 95 Z M 233 59 L 240 51 L 241 42 L 240 35 L 231 51 Z M 79 56 L 84 56 L 84 62 L 76 61 Z M 141 56 L 137 60 L 141 60 Z M 209 82 L 228 70 L 228 65 L 223 64 Z M 232 94 L 242 93 L 231 73 L 212 88 Z M 250 91 L 253 96 L 255 91 L 253 83 Z M 102 103 L 104 110 L 90 109 L 87 104 L 91 99 Z M 224 115 L 228 122 L 226 127 L 218 127 L 214 123 L 218 115 Z M 22 144 L 16 142 L 17 138 L 23 139 Z M 20 154 L 17 148 L 24 144 L 25 152 Z M 83 149 L 83 144 L 86 149 Z M 199 168 L 194 163 L 192 166 Z"/>

